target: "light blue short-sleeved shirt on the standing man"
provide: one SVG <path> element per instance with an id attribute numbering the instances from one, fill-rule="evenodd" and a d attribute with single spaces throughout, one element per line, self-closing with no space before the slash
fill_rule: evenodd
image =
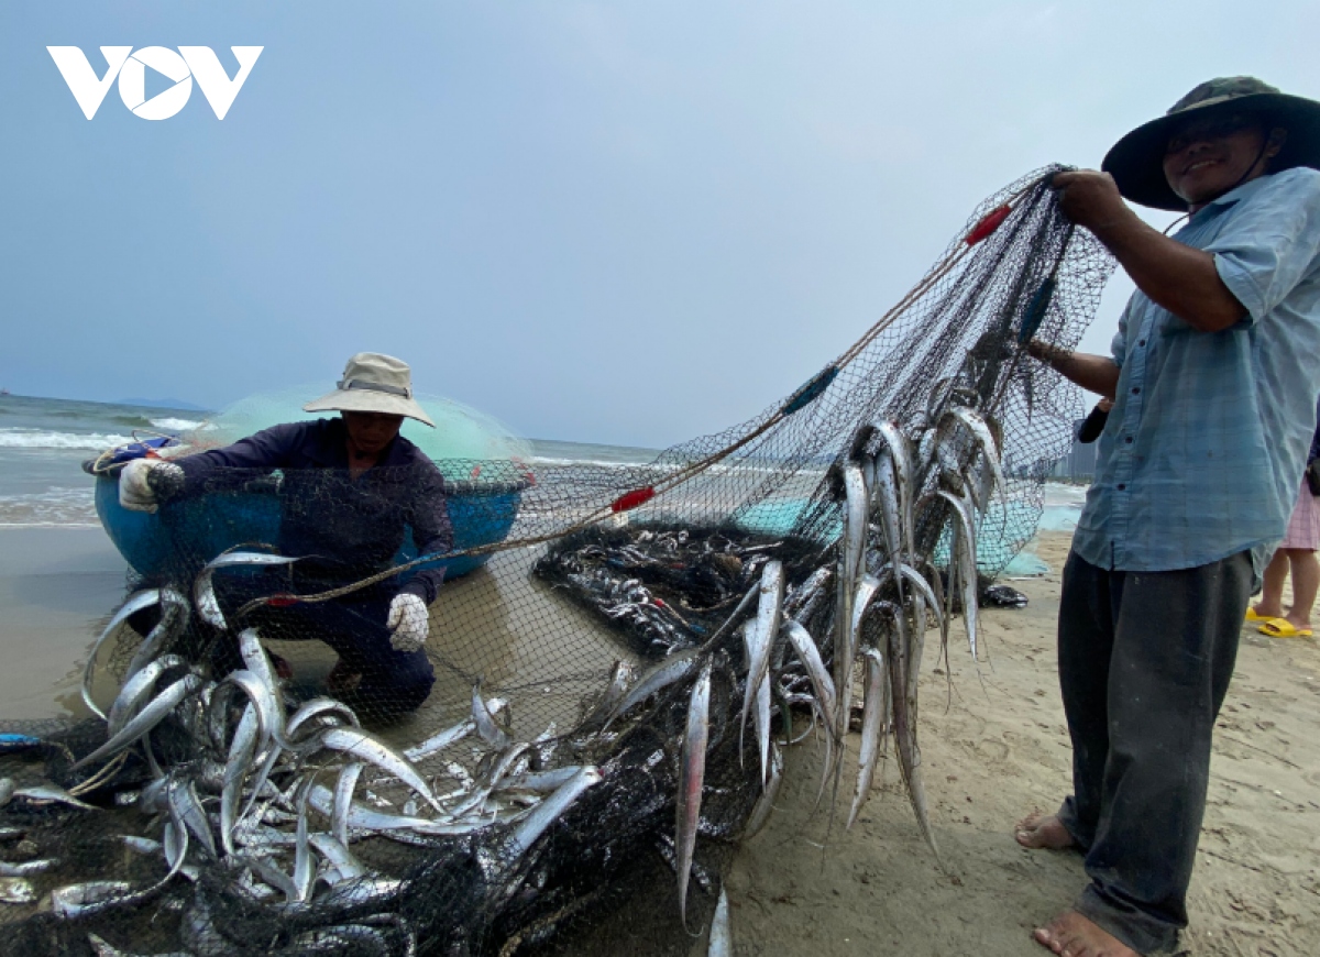
<path id="1" fill-rule="evenodd" d="M 1320 395 L 1320 172 L 1259 177 L 1173 239 L 1214 253 L 1247 315 L 1200 333 L 1138 292 L 1073 549 L 1130 572 L 1196 568 L 1283 539 Z"/>

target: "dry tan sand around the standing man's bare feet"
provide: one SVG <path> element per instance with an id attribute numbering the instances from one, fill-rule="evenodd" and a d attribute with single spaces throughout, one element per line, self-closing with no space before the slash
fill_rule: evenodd
<path id="1" fill-rule="evenodd" d="M 1067 533 L 1041 535 L 1036 552 L 1051 574 L 1014 582 L 1031 599 L 1026 609 L 986 611 L 990 663 L 979 677 L 965 645 L 952 655 L 952 698 L 936 665 L 925 669 L 921 758 L 944 869 L 921 841 L 894 767 L 846 833 L 814 809 L 821 751 L 799 747 L 779 813 L 729 875 L 739 954 L 1048 953 L 1031 929 L 1082 888 L 1081 858 L 1023 850 L 1011 832 L 1032 808 L 1053 809 L 1071 780 L 1055 677 L 1068 543 Z M 1216 737 L 1188 952 L 1320 949 L 1317 717 L 1320 648 L 1243 630 Z"/>

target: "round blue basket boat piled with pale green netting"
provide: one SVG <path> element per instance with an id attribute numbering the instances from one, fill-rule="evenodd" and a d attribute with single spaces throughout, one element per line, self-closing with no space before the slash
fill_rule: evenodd
<path id="1" fill-rule="evenodd" d="M 325 392 L 325 389 L 321 389 Z M 279 422 L 315 416 L 301 411 L 315 385 L 244 399 L 183 440 L 199 449 L 215 447 Z M 418 397 L 436 429 L 407 421 L 403 436 L 414 442 L 445 475 L 454 550 L 503 541 L 517 519 L 523 491 L 536 479 L 524 459 L 529 449 L 496 420 L 447 399 Z M 154 444 L 152 444 L 154 445 Z M 119 473 L 124 455 L 103 455 L 86 463 L 96 479 L 96 515 L 124 560 L 145 578 L 160 577 L 180 556 L 209 561 L 235 545 L 279 541 L 281 496 L 279 473 L 232 491 L 211 491 L 195 499 L 164 504 L 160 511 L 135 512 L 119 504 Z M 112 463 L 111 463 L 112 462 Z M 405 533 L 395 564 L 417 557 L 412 531 Z M 488 554 L 437 561 L 445 577 L 479 568 Z"/>

